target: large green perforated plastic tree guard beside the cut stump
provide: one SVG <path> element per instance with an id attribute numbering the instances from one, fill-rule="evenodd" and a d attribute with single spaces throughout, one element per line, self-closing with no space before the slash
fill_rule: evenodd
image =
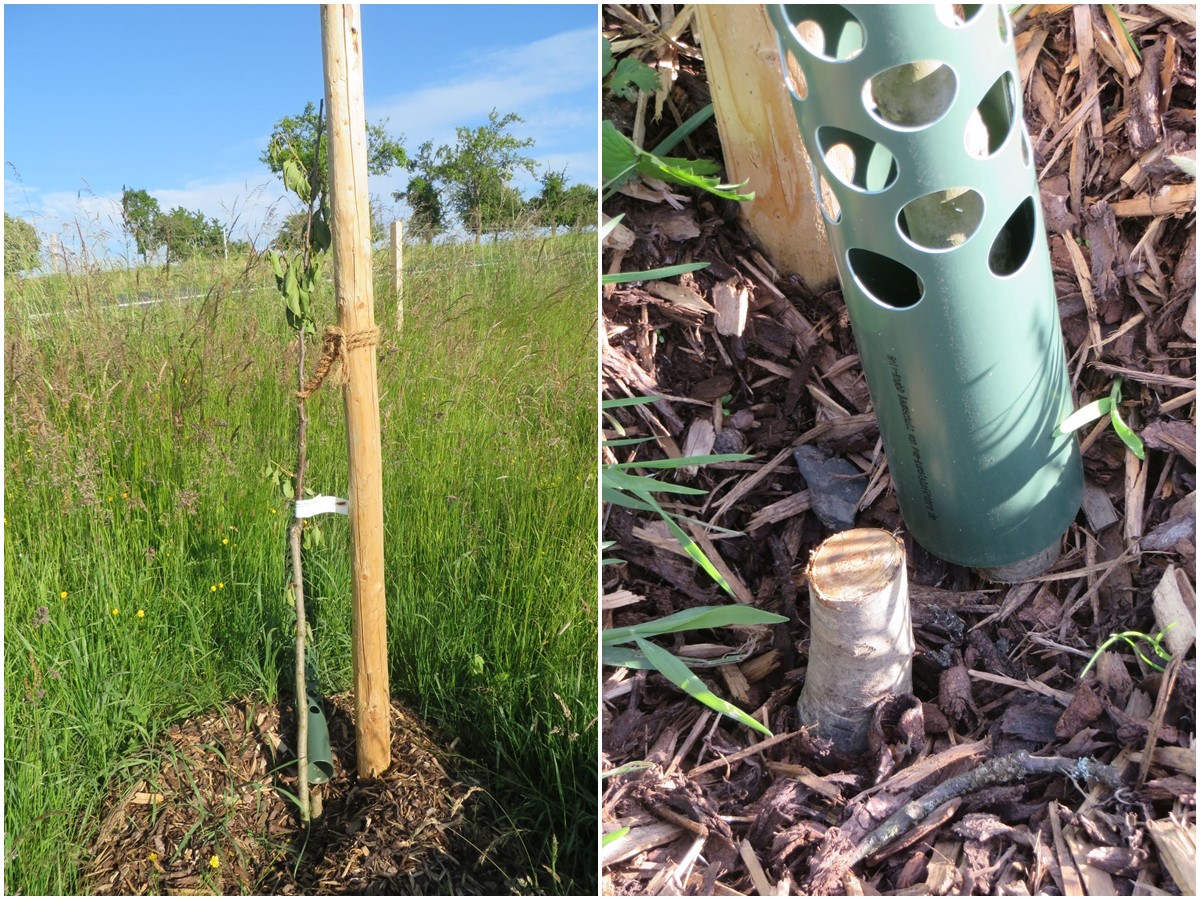
<path id="1" fill-rule="evenodd" d="M 1055 434 L 1073 402 L 1008 17 L 768 12 L 905 524 L 943 559 L 1031 577 L 1084 479 Z"/>

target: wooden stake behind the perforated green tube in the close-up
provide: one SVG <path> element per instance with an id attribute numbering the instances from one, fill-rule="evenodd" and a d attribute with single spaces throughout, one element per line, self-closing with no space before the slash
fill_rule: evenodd
<path id="1" fill-rule="evenodd" d="M 746 227 L 776 268 L 811 290 L 832 287 L 838 270 L 767 12 L 732 4 L 695 8 L 726 175 L 734 184 L 749 179 L 743 190 L 755 192 L 738 206 Z"/>

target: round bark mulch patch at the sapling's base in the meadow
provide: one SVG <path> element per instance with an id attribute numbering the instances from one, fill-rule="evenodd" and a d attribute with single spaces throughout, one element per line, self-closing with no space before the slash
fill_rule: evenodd
<path id="1" fill-rule="evenodd" d="M 360 782 L 353 713 L 350 695 L 326 698 L 335 775 L 307 833 L 287 766 L 289 703 L 246 698 L 173 727 L 110 796 L 89 848 L 89 892 L 524 893 L 502 869 L 506 840 L 486 818 L 486 794 L 449 774 L 452 754 L 394 702 L 391 767 Z"/>

